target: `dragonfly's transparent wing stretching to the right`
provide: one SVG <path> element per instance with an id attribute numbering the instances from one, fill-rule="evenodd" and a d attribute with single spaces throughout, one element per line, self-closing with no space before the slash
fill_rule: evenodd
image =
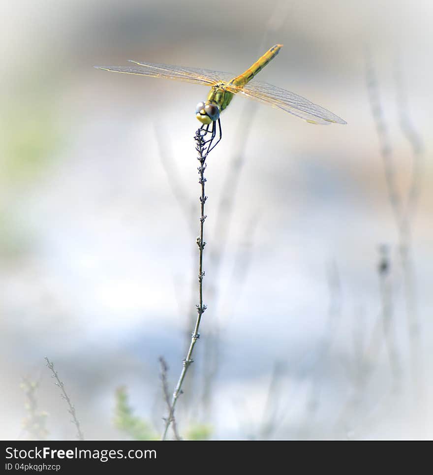
<path id="1" fill-rule="evenodd" d="M 305 97 L 278 88 L 272 84 L 252 80 L 244 87 L 229 86 L 235 94 L 245 95 L 273 107 L 290 112 L 312 124 L 346 124 L 340 117 L 323 107 L 310 102 Z"/>

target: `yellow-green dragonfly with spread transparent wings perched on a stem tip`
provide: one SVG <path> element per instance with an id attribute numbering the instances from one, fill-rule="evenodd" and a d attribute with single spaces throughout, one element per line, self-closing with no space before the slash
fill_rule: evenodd
<path id="1" fill-rule="evenodd" d="M 133 66 L 95 66 L 97 69 L 138 74 L 156 78 L 185 81 L 202 86 L 210 86 L 211 90 L 205 101 L 197 104 L 195 116 L 202 124 L 200 130 L 204 135 L 210 134 L 208 143 L 209 153 L 222 138 L 220 114 L 227 109 L 235 94 L 248 97 L 275 108 L 289 112 L 310 124 L 346 124 L 346 122 L 329 110 L 314 104 L 305 97 L 281 89 L 272 84 L 253 79 L 270 61 L 272 61 L 282 48 L 276 44 L 263 56 L 253 63 L 239 76 L 233 73 L 214 71 L 196 67 L 175 66 L 173 64 L 147 63 L 129 60 Z M 216 142 L 216 123 L 218 125 L 218 139 Z M 213 144 L 213 145 L 212 145 Z"/>

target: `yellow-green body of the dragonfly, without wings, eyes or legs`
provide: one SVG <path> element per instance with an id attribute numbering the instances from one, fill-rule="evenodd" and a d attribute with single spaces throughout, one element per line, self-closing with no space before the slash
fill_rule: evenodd
<path id="1" fill-rule="evenodd" d="M 245 86 L 251 79 L 258 74 L 271 60 L 273 60 L 282 48 L 282 44 L 276 44 L 270 48 L 263 56 L 261 56 L 254 64 L 252 64 L 245 72 L 236 76 L 230 81 L 220 81 L 212 86 L 211 91 L 206 99 L 205 104 L 216 104 L 219 112 L 228 107 L 233 98 L 233 93 L 228 91 L 230 86 Z M 203 113 L 197 114 L 197 119 L 202 124 L 210 124 L 212 120 Z"/>

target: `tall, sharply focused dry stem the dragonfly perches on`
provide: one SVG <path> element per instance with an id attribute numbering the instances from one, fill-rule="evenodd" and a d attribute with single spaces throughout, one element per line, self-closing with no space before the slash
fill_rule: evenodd
<path id="1" fill-rule="evenodd" d="M 198 161 L 200 162 L 200 166 L 197 168 L 198 169 L 198 174 L 200 175 L 199 178 L 199 184 L 201 185 L 201 195 L 200 195 L 200 236 L 197 237 L 197 246 L 199 250 L 199 264 L 198 264 L 198 292 L 199 292 L 199 303 L 196 305 L 197 309 L 197 320 L 195 322 L 195 327 L 194 331 L 191 334 L 191 344 L 189 345 L 188 352 L 186 354 L 186 358 L 183 361 L 183 368 L 181 375 L 179 377 L 179 381 L 176 385 L 176 388 L 173 393 L 173 398 L 171 400 L 171 410 L 169 411 L 169 415 L 165 421 L 165 428 L 164 432 L 162 434 L 162 440 L 165 440 L 167 437 L 167 431 L 168 428 L 170 427 L 170 424 L 172 422 L 172 419 L 174 417 L 174 410 L 176 406 L 176 402 L 179 398 L 179 396 L 182 394 L 182 384 L 185 379 L 186 372 L 188 371 L 188 368 L 190 364 L 193 362 L 193 359 L 191 358 L 192 352 L 194 350 L 194 346 L 197 343 L 197 340 L 200 338 L 200 333 L 198 333 L 198 329 L 200 327 L 200 321 L 201 317 L 206 310 L 206 305 L 203 304 L 203 277 L 205 276 L 205 273 L 203 271 L 203 249 L 206 245 L 205 241 L 203 240 L 203 230 L 204 230 L 204 222 L 206 220 L 206 215 L 205 215 L 205 203 L 207 200 L 207 196 L 205 195 L 205 183 L 206 183 L 206 178 L 204 176 L 205 170 L 206 170 L 206 157 L 207 154 L 205 153 L 205 140 L 202 136 L 202 132 L 200 129 L 198 129 L 195 132 L 195 143 L 196 147 L 195 149 L 198 152 Z"/>

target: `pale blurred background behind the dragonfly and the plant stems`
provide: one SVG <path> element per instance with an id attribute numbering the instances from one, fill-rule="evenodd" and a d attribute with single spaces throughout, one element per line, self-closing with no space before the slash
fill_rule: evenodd
<path id="1" fill-rule="evenodd" d="M 222 115 L 207 168 L 208 310 L 179 430 L 210 439 L 432 438 L 431 1 L 3 0 L 0 15 L 2 439 L 35 436 L 23 419 L 40 412 L 45 437 L 74 438 L 45 355 L 87 439 L 131 437 L 114 422 L 122 385 L 158 437 L 158 357 L 172 390 L 192 330 L 192 136 L 208 91 L 93 65 L 135 59 L 239 74 L 275 43 L 284 47 L 259 79 L 347 125 L 312 126 L 238 97 Z M 414 154 L 402 107 L 423 142 L 410 275 L 368 61 L 403 201 Z M 23 377 L 38 382 L 32 415 Z"/>

